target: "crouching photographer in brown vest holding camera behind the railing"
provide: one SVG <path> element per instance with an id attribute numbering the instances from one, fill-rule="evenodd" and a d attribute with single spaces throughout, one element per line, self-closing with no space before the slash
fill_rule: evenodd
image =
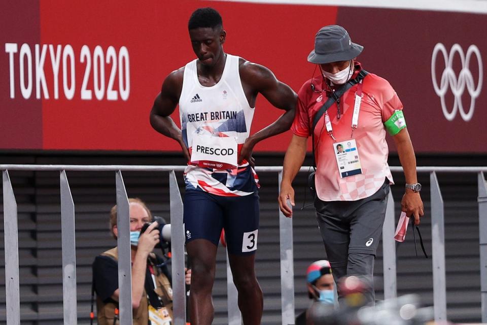
<path id="1" fill-rule="evenodd" d="M 151 211 L 140 199 L 129 199 L 130 244 L 132 260 L 132 307 L 136 325 L 170 324 L 172 320 L 171 279 L 164 260 L 152 253 L 160 242 L 159 224 L 155 221 L 141 234 L 145 223 L 152 221 Z M 113 237 L 118 235 L 117 206 L 110 211 Z M 99 325 L 118 324 L 118 249 L 107 250 L 93 262 L 93 287 Z M 191 270 L 186 272 L 186 283 Z M 149 322 L 153 320 L 152 322 Z M 154 321 L 158 319 L 159 322 Z"/>

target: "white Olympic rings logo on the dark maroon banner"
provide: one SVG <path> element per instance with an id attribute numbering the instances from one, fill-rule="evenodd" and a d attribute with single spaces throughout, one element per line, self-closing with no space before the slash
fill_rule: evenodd
<path id="1" fill-rule="evenodd" d="M 438 52 L 443 54 L 443 59 L 445 61 L 445 70 L 443 70 L 443 73 L 441 74 L 439 86 L 436 81 L 436 57 L 438 56 Z M 462 62 L 462 70 L 458 74 L 458 78 L 453 70 L 453 59 L 456 53 L 458 53 Z M 475 54 L 478 62 L 478 82 L 476 87 L 474 86 L 473 76 L 470 72 L 470 58 L 472 54 Z M 478 47 L 470 45 L 467 54 L 464 54 L 462 47 L 459 44 L 454 44 L 450 49 L 450 53 L 447 54 L 446 48 L 442 43 L 436 44 L 431 57 L 431 78 L 433 80 L 433 88 L 435 89 L 436 94 L 440 97 L 441 109 L 446 119 L 448 121 L 453 120 L 457 115 L 457 111 L 459 111 L 460 116 L 464 121 L 470 121 L 475 109 L 475 99 L 480 94 L 483 80 L 482 58 Z M 470 108 L 468 112 L 465 112 L 462 104 L 462 95 L 465 92 L 465 87 L 470 95 Z M 448 112 L 445 104 L 445 94 L 448 88 L 451 90 L 455 98 L 451 112 Z"/>

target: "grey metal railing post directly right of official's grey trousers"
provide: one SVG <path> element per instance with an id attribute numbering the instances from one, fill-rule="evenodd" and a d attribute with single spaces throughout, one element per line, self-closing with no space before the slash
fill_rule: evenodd
<path id="1" fill-rule="evenodd" d="M 394 198 L 389 191 L 387 199 L 386 219 L 382 226 L 382 266 L 384 268 L 384 299 L 394 299 L 397 296 L 396 279 L 396 241 L 394 218 Z"/>

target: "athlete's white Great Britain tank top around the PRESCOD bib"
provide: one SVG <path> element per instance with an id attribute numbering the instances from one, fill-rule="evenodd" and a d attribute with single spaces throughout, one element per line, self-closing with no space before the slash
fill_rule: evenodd
<path id="1" fill-rule="evenodd" d="M 186 64 L 179 100 L 183 140 L 192 151 L 196 134 L 235 137 L 238 151 L 249 137 L 254 108 L 249 106 L 239 74 L 239 57 L 227 54 L 220 81 L 205 87 L 199 83 L 197 59 Z M 188 165 L 187 189 L 204 190 L 220 196 L 245 196 L 258 186 L 258 178 L 247 161 L 238 168 L 219 170 Z"/>

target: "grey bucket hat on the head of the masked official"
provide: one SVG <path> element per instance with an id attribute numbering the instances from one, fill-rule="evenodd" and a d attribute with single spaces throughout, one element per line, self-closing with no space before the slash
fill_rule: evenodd
<path id="1" fill-rule="evenodd" d="M 328 25 L 318 30 L 315 37 L 315 49 L 308 55 L 311 63 L 330 63 L 351 60 L 364 47 L 353 43 L 349 33 L 342 26 Z"/>

